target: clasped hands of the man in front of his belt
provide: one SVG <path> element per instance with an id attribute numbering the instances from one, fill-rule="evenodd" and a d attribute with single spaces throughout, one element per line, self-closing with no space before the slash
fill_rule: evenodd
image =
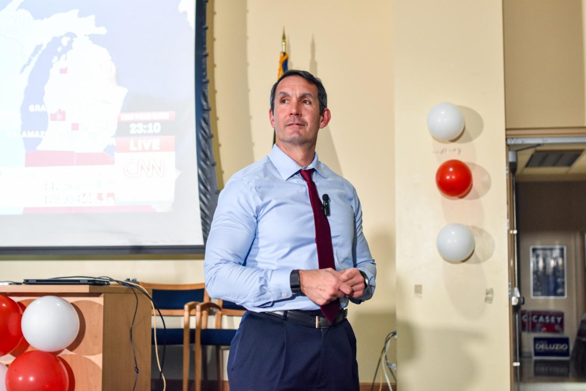
<path id="1" fill-rule="evenodd" d="M 355 267 L 346 270 L 299 270 L 299 280 L 301 291 L 318 305 L 340 297 L 360 297 L 365 288 L 364 278 Z"/>

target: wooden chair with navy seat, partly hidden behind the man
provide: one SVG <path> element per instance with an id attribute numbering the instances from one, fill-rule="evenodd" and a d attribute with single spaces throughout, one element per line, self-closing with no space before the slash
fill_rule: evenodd
<path id="1" fill-rule="evenodd" d="M 210 311 L 213 311 L 216 315 L 216 328 L 207 327 L 207 318 Z M 224 372 L 222 347 L 230 346 L 234 335 L 236 335 L 236 329 L 222 328 L 222 317 L 242 317 L 244 312 L 246 312 L 246 308 L 225 300 L 219 300 L 217 303 L 203 302 L 196 305 L 195 391 L 202 390 L 202 346 L 216 346 L 218 390 L 222 391 L 222 375 Z"/>

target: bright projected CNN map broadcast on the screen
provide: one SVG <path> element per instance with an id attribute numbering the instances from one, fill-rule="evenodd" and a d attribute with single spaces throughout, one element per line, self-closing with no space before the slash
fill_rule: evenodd
<path id="1" fill-rule="evenodd" d="M 194 18 L 190 1 L 0 0 L 0 215 L 173 208 L 194 169 Z"/>

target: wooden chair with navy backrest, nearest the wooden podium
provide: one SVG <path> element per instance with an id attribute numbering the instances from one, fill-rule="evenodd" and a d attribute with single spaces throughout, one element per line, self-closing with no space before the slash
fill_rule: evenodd
<path id="1" fill-rule="evenodd" d="M 182 328 L 166 329 L 166 341 L 163 329 L 157 328 L 156 342 L 158 345 L 183 345 L 183 391 L 188 391 L 189 344 L 195 342 L 195 330 L 189 327 L 189 319 L 195 315 L 198 304 L 210 300 L 205 291 L 205 284 L 140 284 L 152 289 L 152 298 L 163 316 L 183 317 Z M 154 312 L 153 315 L 158 316 L 158 312 Z M 207 319 L 204 321 L 207 322 Z M 151 338 L 154 344 L 154 332 Z"/>

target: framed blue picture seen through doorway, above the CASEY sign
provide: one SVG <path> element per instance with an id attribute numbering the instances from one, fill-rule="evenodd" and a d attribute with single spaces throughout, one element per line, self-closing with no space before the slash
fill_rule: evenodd
<path id="1" fill-rule="evenodd" d="M 531 297 L 565 298 L 565 246 L 531 246 Z"/>

